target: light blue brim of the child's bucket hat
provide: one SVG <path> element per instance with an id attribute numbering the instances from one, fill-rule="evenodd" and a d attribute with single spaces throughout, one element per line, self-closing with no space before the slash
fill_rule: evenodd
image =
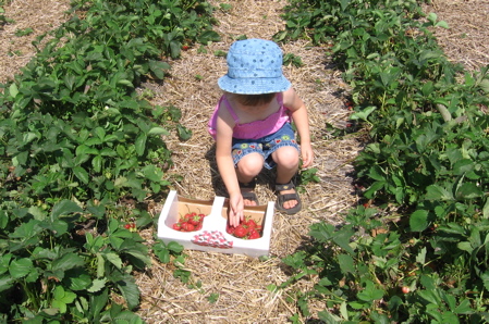
<path id="1" fill-rule="evenodd" d="M 232 78 L 228 74 L 218 79 L 219 87 L 231 94 L 264 95 L 282 92 L 291 87 L 291 82 L 280 77 Z"/>

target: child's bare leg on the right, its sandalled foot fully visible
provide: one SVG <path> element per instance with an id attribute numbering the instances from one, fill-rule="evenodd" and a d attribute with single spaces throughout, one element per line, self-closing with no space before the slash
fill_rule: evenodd
<path id="1" fill-rule="evenodd" d="M 292 177 L 297 173 L 299 155 L 295 147 L 284 146 L 272 153 L 272 159 L 277 163 L 276 183 L 284 185 L 291 182 Z M 281 195 L 295 194 L 295 188 L 280 191 Z M 292 199 L 283 203 L 284 209 L 292 209 L 298 203 Z"/>

